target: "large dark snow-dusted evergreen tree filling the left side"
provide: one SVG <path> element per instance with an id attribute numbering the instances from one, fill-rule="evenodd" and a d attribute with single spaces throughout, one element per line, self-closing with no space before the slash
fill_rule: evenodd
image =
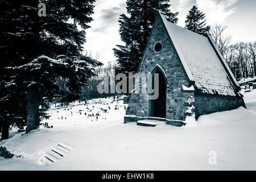
<path id="1" fill-rule="evenodd" d="M 93 68 L 101 63 L 82 54 L 94 2 L 0 1 L 0 114 L 5 123 L 22 118 L 28 131 L 36 129 L 39 117 L 46 117 L 45 99 L 74 100 L 86 78 L 94 75 Z M 38 15 L 39 3 L 46 5 L 46 16 Z M 79 31 L 78 24 L 84 30 Z M 55 84 L 60 78 L 68 79 L 66 90 Z"/>

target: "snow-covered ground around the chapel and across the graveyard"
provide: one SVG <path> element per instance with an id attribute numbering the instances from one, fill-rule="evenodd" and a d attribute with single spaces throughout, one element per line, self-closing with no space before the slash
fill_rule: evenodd
<path id="1" fill-rule="evenodd" d="M 156 127 L 137 126 L 135 122 L 123 124 L 127 105 L 122 101 L 96 100 L 87 106 L 50 110 L 52 118 L 43 122 L 53 128 L 40 126 L 28 134 L 14 133 L 14 137 L 0 143 L 22 156 L 0 157 L 0 169 L 255 170 L 256 90 L 243 94 L 247 110 L 240 107 L 202 115 L 196 125 L 185 127 L 164 122 L 158 122 Z M 98 111 L 97 121 L 96 117 L 87 117 Z M 57 144 L 71 150 L 62 148 L 64 157 L 55 163 L 44 163 L 44 153 L 51 155 L 51 150 L 58 147 L 61 150 Z"/>

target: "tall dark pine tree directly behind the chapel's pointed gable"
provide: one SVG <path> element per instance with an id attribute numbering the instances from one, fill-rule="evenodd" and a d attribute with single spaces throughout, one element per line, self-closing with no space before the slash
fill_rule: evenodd
<path id="1" fill-rule="evenodd" d="M 170 10 L 170 0 L 127 0 L 126 5 L 129 16 L 122 14 L 118 20 L 125 46 L 117 45 L 113 49 L 117 57 L 117 73 L 137 71 L 158 10 L 166 15 L 168 21 L 177 23 L 178 20 L 178 13 Z"/>

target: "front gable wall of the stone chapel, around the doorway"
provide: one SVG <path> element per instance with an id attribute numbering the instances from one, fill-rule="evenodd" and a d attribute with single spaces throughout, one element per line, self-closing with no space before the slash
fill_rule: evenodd
<path id="1" fill-rule="evenodd" d="M 156 43 L 162 43 L 160 52 L 154 51 Z M 156 64 L 159 64 L 166 73 L 167 87 L 167 119 L 184 120 L 184 102 L 187 100 L 187 94 L 182 90 L 182 85 L 189 86 L 184 68 L 181 66 L 174 45 L 168 37 L 162 20 L 156 19 L 150 40 L 144 53 L 144 57 L 138 73 L 151 72 Z M 141 85 L 140 88 L 147 85 Z M 148 95 L 143 93 L 133 93 L 127 107 L 127 115 L 137 115 L 141 117 L 148 116 Z"/>

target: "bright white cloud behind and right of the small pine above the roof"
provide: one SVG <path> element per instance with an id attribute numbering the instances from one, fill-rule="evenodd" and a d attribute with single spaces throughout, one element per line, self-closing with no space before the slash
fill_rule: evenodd
<path id="1" fill-rule="evenodd" d="M 205 13 L 208 24 L 223 23 L 226 18 L 236 12 L 232 7 L 238 0 L 196 0 L 197 6 Z"/>

